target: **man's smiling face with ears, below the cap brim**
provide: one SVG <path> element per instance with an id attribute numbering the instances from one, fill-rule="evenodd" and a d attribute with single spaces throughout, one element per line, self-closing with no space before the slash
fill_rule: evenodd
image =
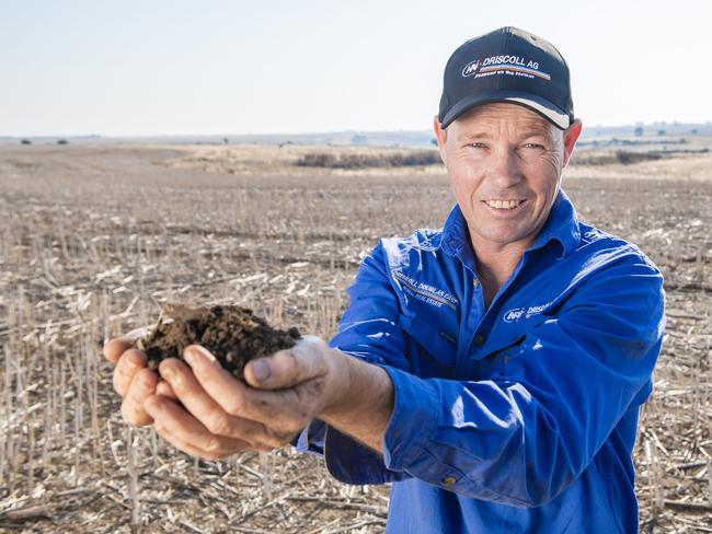
<path id="1" fill-rule="evenodd" d="M 473 246 L 529 246 L 549 217 L 581 123 L 564 134 L 526 107 L 506 103 L 478 106 L 447 131 L 435 123 Z"/>

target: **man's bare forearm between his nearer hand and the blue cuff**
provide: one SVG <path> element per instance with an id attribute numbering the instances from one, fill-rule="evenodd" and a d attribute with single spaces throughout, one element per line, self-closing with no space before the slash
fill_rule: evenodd
<path id="1" fill-rule="evenodd" d="M 344 370 L 338 388 L 319 418 L 340 431 L 382 453 L 383 433 L 393 411 L 393 384 L 378 365 L 331 349 Z"/>

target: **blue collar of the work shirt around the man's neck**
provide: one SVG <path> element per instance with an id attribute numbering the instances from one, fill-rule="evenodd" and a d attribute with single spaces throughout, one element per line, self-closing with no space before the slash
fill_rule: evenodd
<path id="1" fill-rule="evenodd" d="M 541 248 L 551 241 L 559 242 L 562 247 L 559 259 L 575 251 L 581 242 L 576 209 L 563 189 L 559 189 L 549 219 L 527 252 Z M 441 246 L 445 252 L 458 255 L 462 260 L 466 260 L 466 256 L 473 259 L 468 224 L 459 205 L 455 205 L 445 221 Z"/>

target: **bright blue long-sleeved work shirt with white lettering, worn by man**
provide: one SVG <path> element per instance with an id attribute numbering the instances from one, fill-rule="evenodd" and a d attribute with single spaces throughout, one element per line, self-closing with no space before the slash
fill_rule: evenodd
<path id="1" fill-rule="evenodd" d="M 394 391 L 383 454 L 314 420 L 299 450 L 392 481 L 387 532 L 638 532 L 631 458 L 665 325 L 663 277 L 560 190 L 485 309 L 467 223 L 383 239 L 330 345 Z"/>

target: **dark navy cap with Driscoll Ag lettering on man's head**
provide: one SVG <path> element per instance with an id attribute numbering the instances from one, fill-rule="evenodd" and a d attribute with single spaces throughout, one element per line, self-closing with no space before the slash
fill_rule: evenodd
<path id="1" fill-rule="evenodd" d="M 574 119 L 566 61 L 551 43 L 518 27 L 468 40 L 445 66 L 440 126 L 492 102 L 520 104 L 566 129 Z"/>

